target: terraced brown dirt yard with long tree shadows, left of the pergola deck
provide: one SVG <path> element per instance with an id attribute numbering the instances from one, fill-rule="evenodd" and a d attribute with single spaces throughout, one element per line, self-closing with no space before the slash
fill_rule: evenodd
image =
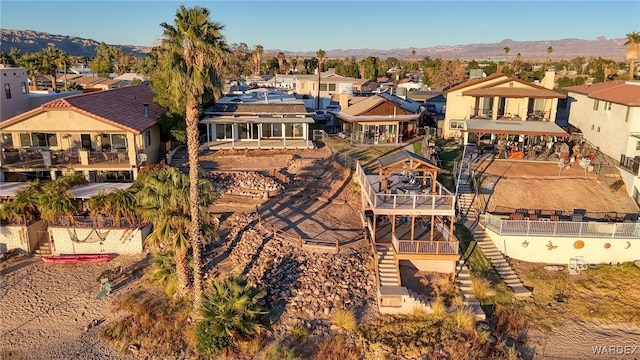
<path id="1" fill-rule="evenodd" d="M 362 238 L 358 215 L 359 192 L 349 171 L 334 165 L 329 150 L 280 151 L 266 156 L 264 150 L 217 152 L 206 155 L 211 170 L 240 168 L 245 171 L 276 169 L 292 181 L 271 199 L 223 195 L 214 212 L 248 212 L 259 209 L 269 225 L 306 239 L 334 240 L 347 244 Z"/>

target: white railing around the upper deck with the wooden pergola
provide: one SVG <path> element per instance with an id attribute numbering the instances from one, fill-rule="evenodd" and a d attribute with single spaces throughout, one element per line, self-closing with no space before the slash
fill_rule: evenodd
<path id="1" fill-rule="evenodd" d="M 455 196 L 440 183 L 436 182 L 436 194 L 384 194 L 372 188 L 360 162 L 356 163 L 356 174 L 373 208 L 454 210 Z"/>

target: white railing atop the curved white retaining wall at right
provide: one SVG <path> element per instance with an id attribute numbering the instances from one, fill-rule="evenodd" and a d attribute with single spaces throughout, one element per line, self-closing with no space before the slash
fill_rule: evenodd
<path id="1" fill-rule="evenodd" d="M 500 235 L 640 238 L 640 223 L 506 220 L 486 214 L 484 226 Z"/>

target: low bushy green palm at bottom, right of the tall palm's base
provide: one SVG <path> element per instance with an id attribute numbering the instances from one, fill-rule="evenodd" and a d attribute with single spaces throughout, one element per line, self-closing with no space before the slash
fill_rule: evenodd
<path id="1" fill-rule="evenodd" d="M 267 314 L 259 304 L 264 296 L 264 292 L 235 276 L 211 283 L 196 328 L 198 351 L 215 355 L 223 346 L 259 334 Z"/>

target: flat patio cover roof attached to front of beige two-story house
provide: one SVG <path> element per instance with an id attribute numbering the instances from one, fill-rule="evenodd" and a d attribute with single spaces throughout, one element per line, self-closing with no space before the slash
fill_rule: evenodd
<path id="1" fill-rule="evenodd" d="M 461 131 L 475 134 L 569 136 L 569 134 L 560 126 L 548 121 L 479 119 L 469 119 L 464 121 L 466 128 L 461 129 Z"/>

